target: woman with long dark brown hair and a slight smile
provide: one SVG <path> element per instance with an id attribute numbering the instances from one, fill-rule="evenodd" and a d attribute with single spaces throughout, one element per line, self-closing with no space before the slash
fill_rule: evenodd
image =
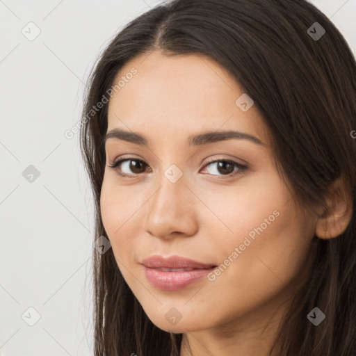
<path id="1" fill-rule="evenodd" d="M 95 355 L 356 355 L 355 64 L 299 0 L 174 0 L 116 35 L 81 127 Z"/>

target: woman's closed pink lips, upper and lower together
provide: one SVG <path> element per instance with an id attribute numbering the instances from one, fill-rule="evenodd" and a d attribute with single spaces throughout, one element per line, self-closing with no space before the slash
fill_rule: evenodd
<path id="1" fill-rule="evenodd" d="M 141 264 L 144 266 L 149 282 L 164 291 L 183 289 L 200 280 L 216 267 L 213 264 L 202 264 L 184 257 L 164 258 L 159 255 L 144 259 Z"/>

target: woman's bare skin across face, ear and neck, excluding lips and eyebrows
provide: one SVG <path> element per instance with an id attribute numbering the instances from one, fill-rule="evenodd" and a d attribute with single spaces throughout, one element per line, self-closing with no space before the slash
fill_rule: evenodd
<path id="1" fill-rule="evenodd" d="M 314 234 L 330 238 L 349 219 L 335 220 L 326 236 L 326 220 L 298 209 L 277 173 L 271 137 L 256 105 L 246 112 L 236 106 L 243 88 L 217 63 L 153 51 L 131 60 L 117 78 L 132 67 L 138 73 L 108 104 L 108 131 L 140 133 L 148 145 L 106 141 L 101 194 L 102 220 L 118 267 L 149 319 L 165 331 L 184 333 L 181 356 L 269 355 L 290 298 L 309 273 Z M 230 129 L 265 145 L 236 139 L 186 145 L 191 134 Z M 136 173 L 127 161 L 121 170 L 130 176 L 120 177 L 120 167 L 108 165 L 122 155 L 147 166 Z M 239 168 L 224 175 L 217 163 L 207 165 L 208 158 L 247 168 L 241 175 L 234 175 Z M 164 175 L 172 164 L 183 173 L 176 183 Z M 145 277 L 140 261 L 152 254 L 223 264 L 273 211 L 279 216 L 216 280 L 161 291 Z M 165 318 L 172 307 L 181 314 L 175 325 Z"/>

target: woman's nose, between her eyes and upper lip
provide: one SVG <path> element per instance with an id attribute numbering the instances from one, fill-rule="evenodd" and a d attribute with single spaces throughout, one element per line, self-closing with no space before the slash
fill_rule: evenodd
<path id="1" fill-rule="evenodd" d="M 145 229 L 157 238 L 193 236 L 197 232 L 197 199 L 185 175 L 173 183 L 162 174 L 146 204 Z"/>

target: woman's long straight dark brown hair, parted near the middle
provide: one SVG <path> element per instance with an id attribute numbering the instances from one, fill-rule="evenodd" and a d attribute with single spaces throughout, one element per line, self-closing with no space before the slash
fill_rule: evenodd
<path id="1" fill-rule="evenodd" d="M 325 29 L 319 40 L 307 33 L 315 22 Z M 327 194 L 343 179 L 353 203 L 350 224 L 337 238 L 314 236 L 312 273 L 293 298 L 277 340 L 281 356 L 356 355 L 356 141 L 350 135 L 356 129 L 356 63 L 346 40 L 305 0 L 168 1 L 133 19 L 108 44 L 90 74 L 83 115 L 102 100 L 125 63 L 154 50 L 202 54 L 229 71 L 263 115 L 278 172 L 301 206 L 321 205 L 327 213 Z M 95 238 L 107 236 L 100 215 L 107 107 L 81 126 Z M 149 320 L 112 249 L 94 250 L 93 260 L 95 355 L 178 356 L 182 334 Z M 307 320 L 314 307 L 326 315 L 317 327 Z"/>

